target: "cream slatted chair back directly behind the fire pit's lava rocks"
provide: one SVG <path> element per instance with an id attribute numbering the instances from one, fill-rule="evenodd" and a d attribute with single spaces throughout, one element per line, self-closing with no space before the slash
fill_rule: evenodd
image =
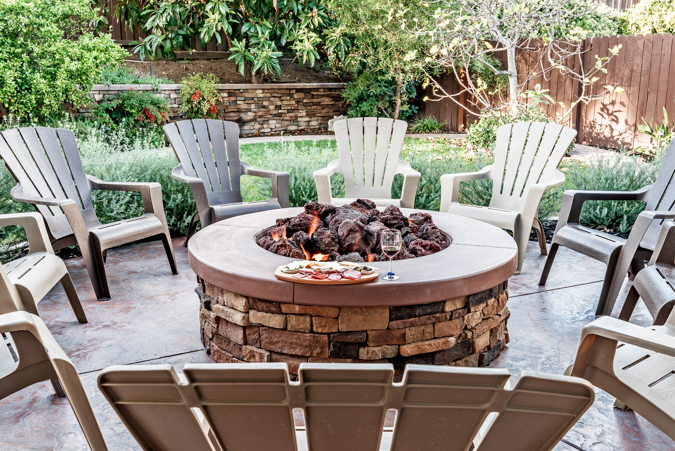
<path id="1" fill-rule="evenodd" d="M 408 124 L 388 117 L 352 117 L 333 126 L 345 197 L 391 198 Z"/>

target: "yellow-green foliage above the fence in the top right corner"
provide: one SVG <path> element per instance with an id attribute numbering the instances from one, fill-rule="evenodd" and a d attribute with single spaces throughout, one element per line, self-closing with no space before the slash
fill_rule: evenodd
<path id="1" fill-rule="evenodd" d="M 622 16 L 623 34 L 675 32 L 675 1 L 642 0 Z"/>

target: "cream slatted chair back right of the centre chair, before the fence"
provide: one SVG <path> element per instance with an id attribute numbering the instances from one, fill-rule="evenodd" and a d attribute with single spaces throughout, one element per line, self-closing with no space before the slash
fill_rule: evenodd
<path id="1" fill-rule="evenodd" d="M 522 211 L 531 186 L 553 180 L 575 135 L 572 128 L 545 122 L 497 128 L 490 207 Z"/>

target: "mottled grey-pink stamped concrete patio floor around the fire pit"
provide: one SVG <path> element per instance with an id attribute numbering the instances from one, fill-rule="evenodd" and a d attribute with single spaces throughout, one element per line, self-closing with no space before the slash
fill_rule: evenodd
<path id="1" fill-rule="evenodd" d="M 196 276 L 187 250 L 173 240 L 179 275 L 172 275 L 161 242 L 110 250 L 107 274 L 113 299 L 98 302 L 81 258 L 66 262 L 89 322 L 78 324 L 57 285 L 38 305 L 41 317 L 80 372 L 111 451 L 140 450 L 97 389 L 109 365 L 211 363 L 199 338 Z M 545 256 L 530 242 L 523 274 L 510 278 L 511 342 L 491 367 L 562 374 L 572 363 L 583 325 L 593 320 L 604 265 L 560 248 L 547 286 L 537 286 Z M 405 277 L 405 274 L 400 274 Z M 614 309 L 618 316 L 621 304 Z M 650 325 L 639 304 L 631 322 Z M 596 389 L 595 404 L 572 427 L 556 451 L 675 449 L 675 442 L 632 410 L 612 406 Z M 298 421 L 296 425 L 302 425 Z M 302 448 L 301 448 L 302 449 Z M 306 448 L 304 448 L 306 449 Z M 49 382 L 36 383 L 0 400 L 0 450 L 88 450 L 68 400 L 54 396 Z"/>

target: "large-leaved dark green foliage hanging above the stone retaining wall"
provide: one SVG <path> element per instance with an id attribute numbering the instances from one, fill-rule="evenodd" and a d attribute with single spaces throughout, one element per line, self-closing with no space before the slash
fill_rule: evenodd
<path id="1" fill-rule="evenodd" d="M 93 1 L 105 9 L 105 0 Z M 254 83 L 267 72 L 280 73 L 277 45 L 290 49 L 300 63 L 314 65 L 319 48 L 334 59 L 350 44 L 340 39 L 338 25 L 319 0 L 119 0 L 113 14 L 146 34 L 134 47 L 141 59 L 175 60 L 175 51 L 192 53 L 192 38 L 205 47 L 213 39 L 220 44 L 223 34 L 238 55 L 232 58 L 238 69 Z"/>

